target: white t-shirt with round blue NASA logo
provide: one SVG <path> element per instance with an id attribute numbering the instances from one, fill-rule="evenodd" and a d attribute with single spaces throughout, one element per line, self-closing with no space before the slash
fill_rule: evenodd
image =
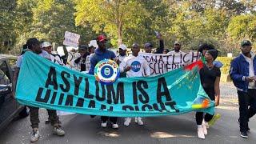
<path id="1" fill-rule="evenodd" d="M 146 61 L 142 56 L 138 55 L 135 57 L 131 54 L 124 58 L 119 66 L 120 71 L 124 72 L 127 66 L 131 66 L 131 69 L 126 71 L 127 78 L 150 76 L 150 66 L 146 64 Z"/>

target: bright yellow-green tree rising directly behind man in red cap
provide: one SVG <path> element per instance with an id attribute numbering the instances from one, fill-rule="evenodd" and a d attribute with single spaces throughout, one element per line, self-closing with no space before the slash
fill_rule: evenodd
<path id="1" fill-rule="evenodd" d="M 78 0 L 75 8 L 77 26 L 90 24 L 96 32 L 118 39 L 118 44 L 123 31 L 139 26 L 147 14 L 141 3 L 127 0 Z"/>

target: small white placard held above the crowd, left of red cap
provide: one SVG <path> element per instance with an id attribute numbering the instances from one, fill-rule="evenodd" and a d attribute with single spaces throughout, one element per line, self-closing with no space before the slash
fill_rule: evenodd
<path id="1" fill-rule="evenodd" d="M 74 34 L 69 31 L 66 31 L 64 37 L 65 37 L 65 39 L 63 41 L 63 45 L 74 46 L 74 47 L 78 46 L 79 38 L 80 38 L 79 34 Z"/>

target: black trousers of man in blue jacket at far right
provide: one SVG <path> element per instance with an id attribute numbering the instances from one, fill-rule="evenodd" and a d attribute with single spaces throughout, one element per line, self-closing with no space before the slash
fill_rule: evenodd
<path id="1" fill-rule="evenodd" d="M 247 92 L 238 90 L 240 131 L 246 132 L 248 122 L 256 114 L 256 90 L 249 89 Z"/>

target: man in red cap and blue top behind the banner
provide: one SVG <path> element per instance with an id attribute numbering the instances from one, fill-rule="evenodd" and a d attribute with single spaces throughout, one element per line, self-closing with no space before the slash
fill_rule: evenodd
<path id="1" fill-rule="evenodd" d="M 112 59 L 114 60 L 116 58 L 115 54 L 111 50 L 106 49 L 106 37 L 104 35 L 99 35 L 97 38 L 97 44 L 98 48 L 95 50 L 95 53 L 92 55 L 90 58 L 90 70 L 89 74 L 94 74 L 94 68 L 96 64 L 103 59 Z M 112 123 L 112 128 L 113 129 L 118 129 L 118 124 L 117 124 L 117 117 L 106 117 L 102 116 L 102 127 L 106 127 L 107 125 L 107 120 L 110 119 L 110 122 Z"/>

